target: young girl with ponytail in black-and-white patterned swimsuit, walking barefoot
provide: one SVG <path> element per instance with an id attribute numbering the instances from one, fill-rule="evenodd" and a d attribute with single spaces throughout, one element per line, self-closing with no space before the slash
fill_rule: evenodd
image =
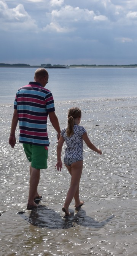
<path id="1" fill-rule="evenodd" d="M 83 169 L 83 140 L 90 149 L 100 155 L 102 154 L 101 150 L 97 149 L 91 143 L 84 127 L 79 125 L 80 121 L 80 108 L 70 108 L 68 113 L 68 126 L 62 129 L 57 145 L 57 170 L 61 171 L 62 168 L 61 151 L 65 141 L 67 148 L 65 148 L 64 164 L 72 176 L 70 188 L 67 192 L 64 207 L 62 208 L 62 211 L 65 212 L 65 216 L 70 215 L 69 205 L 73 197 L 75 199 L 75 207 L 80 207 L 84 203 L 84 201 L 80 201 L 79 198 L 79 184 Z"/>

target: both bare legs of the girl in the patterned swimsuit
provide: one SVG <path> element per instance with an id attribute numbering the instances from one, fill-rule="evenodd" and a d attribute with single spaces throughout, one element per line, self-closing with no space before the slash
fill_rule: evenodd
<path id="1" fill-rule="evenodd" d="M 77 204 L 80 205 L 80 199 L 79 199 L 79 184 L 80 184 L 80 178 L 82 174 L 83 169 L 83 161 L 77 161 L 74 162 L 71 166 L 67 166 L 67 169 L 70 173 L 71 182 L 70 182 L 70 188 L 67 192 L 67 197 L 65 199 L 64 208 L 69 214 L 69 205 L 72 202 L 73 197 L 75 198 L 76 206 Z"/>

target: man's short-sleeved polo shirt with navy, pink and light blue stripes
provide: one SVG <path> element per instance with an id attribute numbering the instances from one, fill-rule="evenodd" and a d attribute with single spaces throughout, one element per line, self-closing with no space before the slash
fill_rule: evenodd
<path id="1" fill-rule="evenodd" d="M 55 111 L 52 93 L 38 82 L 29 82 L 18 90 L 14 109 L 18 111 L 19 142 L 49 146 L 48 112 Z"/>

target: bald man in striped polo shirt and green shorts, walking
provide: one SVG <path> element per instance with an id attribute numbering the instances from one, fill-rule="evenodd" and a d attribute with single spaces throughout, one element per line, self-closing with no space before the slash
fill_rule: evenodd
<path id="1" fill-rule="evenodd" d="M 40 169 L 47 168 L 49 139 L 47 133 L 47 118 L 57 131 L 59 140 L 61 129 L 55 114 L 53 95 L 45 85 L 48 83 L 48 72 L 44 68 L 35 71 L 34 82 L 21 87 L 14 101 L 14 113 L 11 123 L 9 144 L 16 144 L 15 131 L 19 121 L 19 142 L 23 143 L 24 151 L 30 164 L 30 186 L 27 209 L 38 205 L 36 198 L 41 198 L 37 192 L 40 180 Z"/>

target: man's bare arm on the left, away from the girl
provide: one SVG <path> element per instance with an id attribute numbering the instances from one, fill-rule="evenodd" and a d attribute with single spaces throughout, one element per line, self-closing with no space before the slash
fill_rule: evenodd
<path id="1" fill-rule="evenodd" d="M 12 148 L 14 148 L 16 144 L 15 131 L 16 131 L 17 124 L 18 124 L 18 112 L 17 112 L 17 109 L 14 109 L 13 119 L 11 123 L 10 138 L 9 138 L 9 144 L 11 145 Z"/>

